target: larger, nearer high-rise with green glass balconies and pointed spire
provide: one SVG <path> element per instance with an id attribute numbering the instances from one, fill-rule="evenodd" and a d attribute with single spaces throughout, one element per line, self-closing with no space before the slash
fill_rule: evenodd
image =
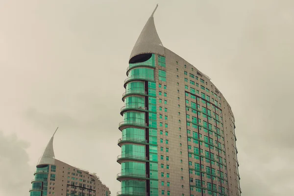
<path id="1" fill-rule="evenodd" d="M 231 107 L 208 76 L 163 46 L 155 10 L 126 70 L 118 195 L 240 196 Z"/>

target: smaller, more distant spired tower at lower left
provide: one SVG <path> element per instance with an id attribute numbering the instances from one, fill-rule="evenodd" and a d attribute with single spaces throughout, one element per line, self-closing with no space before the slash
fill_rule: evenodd
<path id="1" fill-rule="evenodd" d="M 110 196 L 109 188 L 96 173 L 55 159 L 54 134 L 37 164 L 30 196 Z"/>

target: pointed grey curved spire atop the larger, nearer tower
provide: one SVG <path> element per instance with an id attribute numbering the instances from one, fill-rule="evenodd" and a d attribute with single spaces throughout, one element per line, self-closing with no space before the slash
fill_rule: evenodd
<path id="1" fill-rule="evenodd" d="M 131 52 L 130 59 L 141 53 L 156 53 L 164 55 L 164 47 L 154 25 L 153 15 L 157 7 L 158 4 L 156 5 L 141 34 L 139 35 L 139 38 Z"/>

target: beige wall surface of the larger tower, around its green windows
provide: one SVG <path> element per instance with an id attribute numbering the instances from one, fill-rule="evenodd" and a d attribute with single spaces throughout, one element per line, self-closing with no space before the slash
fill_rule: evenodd
<path id="1" fill-rule="evenodd" d="M 231 111 L 231 108 L 225 98 L 222 96 L 221 92 L 215 87 L 215 85 L 210 81 L 210 78 L 205 76 L 205 74 L 201 73 L 199 70 L 196 69 L 193 65 L 191 65 L 189 62 L 185 61 L 183 58 L 178 56 L 177 54 L 173 53 L 169 49 L 165 49 L 165 56 L 166 56 L 166 67 L 160 67 L 158 64 L 155 68 L 155 78 L 156 78 L 156 84 L 158 87 L 158 84 L 166 85 L 167 89 L 164 90 L 162 88 L 157 88 L 157 95 L 159 94 L 159 91 L 166 92 L 167 97 L 164 96 L 158 96 L 158 99 L 161 98 L 163 100 L 167 100 L 167 104 L 164 102 L 158 103 L 158 111 L 159 107 L 162 106 L 163 108 L 168 108 L 168 112 L 161 111 L 159 114 L 162 114 L 163 116 L 168 116 L 168 120 L 158 119 L 158 130 L 163 130 L 164 134 L 160 135 L 160 131 L 158 131 L 157 138 L 163 138 L 164 141 L 166 139 L 169 140 L 169 144 L 159 144 L 158 145 L 158 160 L 160 164 L 169 164 L 170 169 L 161 169 L 159 167 L 158 173 L 161 172 L 170 173 L 170 177 L 161 177 L 159 175 L 159 182 L 165 181 L 170 182 L 170 187 L 165 186 L 159 186 L 159 193 L 161 190 L 165 190 L 165 193 L 167 191 L 171 191 L 172 195 L 174 196 L 180 196 L 180 195 L 194 195 L 194 196 L 208 196 L 208 192 L 206 190 L 206 193 L 198 193 L 195 190 L 191 190 L 190 185 L 195 184 L 195 180 L 199 179 L 202 181 L 210 182 L 212 184 L 216 184 L 217 188 L 219 186 L 223 187 L 225 192 L 223 195 L 227 196 L 240 196 L 241 195 L 241 188 L 239 185 L 239 172 L 238 172 L 238 161 L 237 161 L 237 150 L 236 150 L 236 136 L 234 134 L 234 116 Z M 158 62 L 155 60 L 155 62 Z M 158 80 L 158 69 L 166 71 L 166 77 L 167 81 L 163 82 Z M 187 72 L 187 75 L 185 75 L 185 71 Z M 191 78 L 190 73 L 194 74 L 198 77 L 198 80 Z M 187 78 L 188 81 L 185 82 L 185 79 Z M 204 83 L 200 82 L 200 79 L 204 80 Z M 195 83 L 198 83 L 198 86 L 191 84 L 190 80 L 194 81 Z M 185 89 L 185 85 L 188 86 L 188 89 Z M 207 121 L 208 123 L 211 123 L 212 125 L 215 125 L 216 127 L 220 127 L 220 130 L 223 130 L 223 135 L 220 134 L 221 137 L 224 138 L 224 141 L 218 140 L 218 137 L 215 137 L 215 134 L 210 136 L 210 138 L 220 141 L 221 145 L 225 146 L 225 149 L 222 149 L 225 151 L 225 155 L 222 153 L 220 155 L 222 159 L 226 159 L 226 164 L 223 164 L 223 168 L 219 168 L 216 165 L 211 165 L 211 163 L 207 163 L 204 160 L 195 160 L 193 157 L 190 158 L 188 156 L 188 152 L 193 151 L 193 147 L 198 147 L 197 144 L 194 144 L 192 141 L 188 141 L 188 134 L 187 129 L 190 129 L 191 131 L 195 131 L 195 128 L 187 127 L 187 115 L 192 116 L 193 113 L 186 111 L 186 99 L 189 100 L 189 103 L 193 101 L 191 98 L 187 98 L 185 96 L 185 92 L 189 92 L 190 94 L 190 87 L 195 88 L 196 91 L 199 91 L 199 94 L 195 94 L 195 96 L 201 100 L 201 92 L 207 94 L 206 90 L 201 89 L 201 85 L 205 87 L 205 89 L 208 89 L 209 92 L 214 92 L 217 94 L 218 98 L 216 100 L 221 103 L 221 107 L 219 107 L 222 111 L 215 111 L 216 114 L 218 114 L 220 117 L 222 117 L 222 121 L 220 120 L 220 125 L 215 123 L 213 120 L 207 120 L 203 118 L 202 113 L 197 118 L 200 120 Z M 163 94 L 163 93 L 162 93 Z M 194 94 L 193 94 L 194 95 Z M 209 95 L 211 98 L 211 94 Z M 219 100 L 219 97 L 221 100 Z M 196 100 L 194 100 L 196 102 Z M 207 100 L 205 100 L 207 102 Z M 201 101 L 197 101 L 197 104 L 200 105 L 199 110 L 203 107 L 207 107 L 207 109 L 212 110 L 212 105 L 215 106 L 214 103 L 210 102 L 211 106 L 207 107 L 206 104 L 203 104 Z M 197 114 L 195 114 L 197 116 Z M 191 118 L 191 117 L 190 117 Z M 180 122 L 179 122 L 180 121 Z M 190 119 L 190 121 L 192 121 Z M 163 122 L 163 124 L 168 123 L 168 128 L 160 127 L 159 123 Z M 221 127 L 221 123 L 223 123 L 223 127 Z M 168 136 L 165 135 L 165 131 L 168 131 Z M 199 133 L 202 134 L 202 140 L 203 136 L 207 135 L 203 130 L 199 130 Z M 215 133 L 215 132 L 214 132 Z M 201 138 L 200 138 L 201 139 Z M 192 146 L 192 149 L 188 149 L 188 145 Z M 164 151 L 160 151 L 160 147 L 164 147 Z M 165 148 L 169 148 L 169 152 L 166 152 Z M 215 155 L 218 154 L 218 150 L 214 149 L 211 150 L 209 147 L 205 147 L 204 144 L 200 146 L 200 148 L 203 149 L 203 153 L 200 153 L 200 155 L 203 155 L 205 157 L 205 150 L 210 151 L 214 153 Z M 160 160 L 160 156 L 164 155 L 164 157 L 169 156 L 169 161 L 166 160 Z M 189 166 L 189 161 L 192 161 L 193 165 Z M 221 183 L 218 180 L 208 179 L 206 176 L 198 176 L 195 175 L 194 171 L 193 174 L 189 173 L 189 168 L 194 169 L 194 163 L 201 163 L 204 166 L 204 169 L 201 171 L 206 171 L 206 166 L 210 168 L 214 168 L 219 170 L 220 172 L 227 174 L 227 177 L 224 177 L 224 179 L 227 181 L 227 183 Z M 227 168 L 225 169 L 224 166 Z M 216 176 L 218 176 L 216 174 Z M 193 182 L 189 182 L 190 178 L 193 178 Z M 216 178 L 217 179 L 217 178 Z M 203 185 L 204 188 L 207 188 L 207 185 Z M 160 185 L 161 183 L 159 183 Z M 196 188 L 195 188 L 196 189 Z M 219 191 L 216 192 L 219 194 Z"/>

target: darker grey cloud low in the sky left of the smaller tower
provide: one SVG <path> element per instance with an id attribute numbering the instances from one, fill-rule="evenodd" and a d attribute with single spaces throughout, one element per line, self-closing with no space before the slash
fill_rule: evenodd
<path id="1" fill-rule="evenodd" d="M 0 195 L 29 195 L 33 171 L 28 165 L 27 147 L 29 144 L 15 134 L 5 136 L 0 131 Z"/>

